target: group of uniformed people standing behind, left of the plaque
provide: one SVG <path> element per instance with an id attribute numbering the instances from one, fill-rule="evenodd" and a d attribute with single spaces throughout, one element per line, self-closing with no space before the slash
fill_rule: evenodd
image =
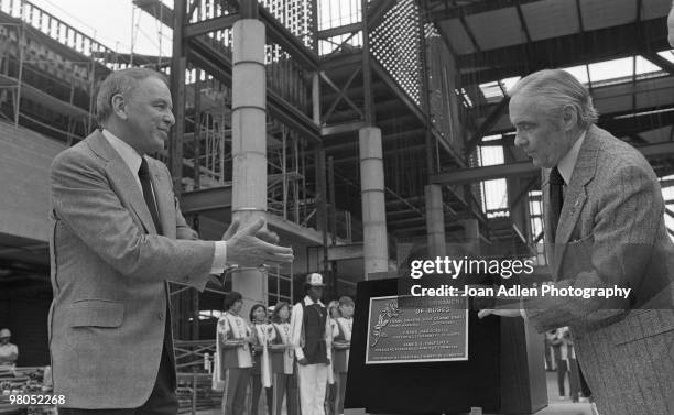
<path id="1" fill-rule="evenodd" d="M 306 296 L 293 307 L 263 304 L 240 315 L 243 298 L 230 292 L 217 325 L 214 389 L 222 391 L 224 415 L 341 415 L 346 394 L 354 301 L 326 307 L 323 276 L 307 275 Z M 285 408 L 285 411 L 284 411 Z"/>

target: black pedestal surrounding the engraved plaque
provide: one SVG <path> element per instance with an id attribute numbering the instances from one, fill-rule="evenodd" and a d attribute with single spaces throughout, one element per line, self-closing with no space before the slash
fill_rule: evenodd
<path id="1" fill-rule="evenodd" d="M 358 284 L 347 408 L 370 414 L 534 414 L 547 404 L 543 341 L 521 318 L 469 312 L 468 361 L 365 364 L 369 299 L 398 294 L 395 279 Z"/>

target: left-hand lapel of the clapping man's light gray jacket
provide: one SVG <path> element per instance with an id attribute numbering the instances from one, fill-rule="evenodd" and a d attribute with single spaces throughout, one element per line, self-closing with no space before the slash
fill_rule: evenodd
<path id="1" fill-rule="evenodd" d="M 88 141 L 88 145 L 96 154 L 106 160 L 106 173 L 112 182 L 112 186 L 117 195 L 126 200 L 133 212 L 140 219 L 142 226 L 148 233 L 156 234 L 152 216 L 143 198 L 143 193 L 138 187 L 138 182 L 131 171 L 121 159 L 121 156 L 112 149 L 108 140 L 100 131 L 96 131 Z"/>

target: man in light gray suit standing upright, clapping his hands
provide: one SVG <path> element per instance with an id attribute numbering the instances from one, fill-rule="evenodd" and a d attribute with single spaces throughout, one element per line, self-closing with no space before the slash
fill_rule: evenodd
<path id="1" fill-rule="evenodd" d="M 175 122 L 163 75 L 111 74 L 97 112 L 102 129 L 58 154 L 51 173 L 48 329 L 59 415 L 175 414 L 167 281 L 203 291 L 227 264 L 292 261 L 292 249 L 268 243 L 278 238 L 260 230 L 263 220 L 236 233 L 232 226 L 217 242 L 187 227 L 166 166 L 146 155 L 163 149 Z"/>

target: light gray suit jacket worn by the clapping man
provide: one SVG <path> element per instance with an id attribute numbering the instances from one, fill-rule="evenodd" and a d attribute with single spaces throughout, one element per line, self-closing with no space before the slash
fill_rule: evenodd
<path id="1" fill-rule="evenodd" d="M 206 285 L 214 242 L 194 240 L 166 166 L 151 159 L 149 167 L 163 236 L 100 131 L 53 162 L 48 329 L 54 393 L 65 395 L 65 407 L 142 405 L 170 318 L 166 282 Z"/>

